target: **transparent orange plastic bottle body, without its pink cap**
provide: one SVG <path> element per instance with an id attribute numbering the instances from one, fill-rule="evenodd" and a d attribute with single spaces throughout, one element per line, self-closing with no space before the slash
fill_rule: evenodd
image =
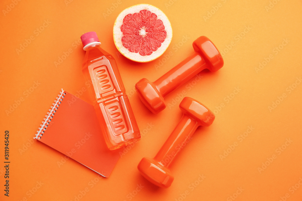
<path id="1" fill-rule="evenodd" d="M 140 131 L 114 58 L 99 45 L 88 47 L 82 70 L 108 148 L 118 149 L 139 140 Z"/>

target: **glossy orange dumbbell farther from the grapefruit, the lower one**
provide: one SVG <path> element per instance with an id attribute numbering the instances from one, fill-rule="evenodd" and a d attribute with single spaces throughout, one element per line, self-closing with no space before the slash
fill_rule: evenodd
<path id="1" fill-rule="evenodd" d="M 168 169 L 175 155 L 191 138 L 198 126 L 210 126 L 215 115 L 200 102 L 185 97 L 179 105 L 183 116 L 153 159 L 144 157 L 137 168 L 152 184 L 168 188 L 174 177 Z"/>

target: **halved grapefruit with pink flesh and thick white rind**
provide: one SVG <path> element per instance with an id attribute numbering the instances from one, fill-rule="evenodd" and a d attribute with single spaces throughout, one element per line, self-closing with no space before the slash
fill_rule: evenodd
<path id="1" fill-rule="evenodd" d="M 118 51 L 128 59 L 148 62 L 168 48 L 172 27 L 159 8 L 149 4 L 133 5 L 117 16 L 113 39 Z"/>

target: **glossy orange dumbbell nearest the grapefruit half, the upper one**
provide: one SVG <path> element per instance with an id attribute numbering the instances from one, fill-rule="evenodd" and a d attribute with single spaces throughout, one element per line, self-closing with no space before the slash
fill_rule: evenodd
<path id="1" fill-rule="evenodd" d="M 223 66 L 223 59 L 215 45 L 205 36 L 193 42 L 194 53 L 155 82 L 146 78 L 135 85 L 138 96 L 154 114 L 165 109 L 164 97 L 205 68 L 212 72 Z"/>

